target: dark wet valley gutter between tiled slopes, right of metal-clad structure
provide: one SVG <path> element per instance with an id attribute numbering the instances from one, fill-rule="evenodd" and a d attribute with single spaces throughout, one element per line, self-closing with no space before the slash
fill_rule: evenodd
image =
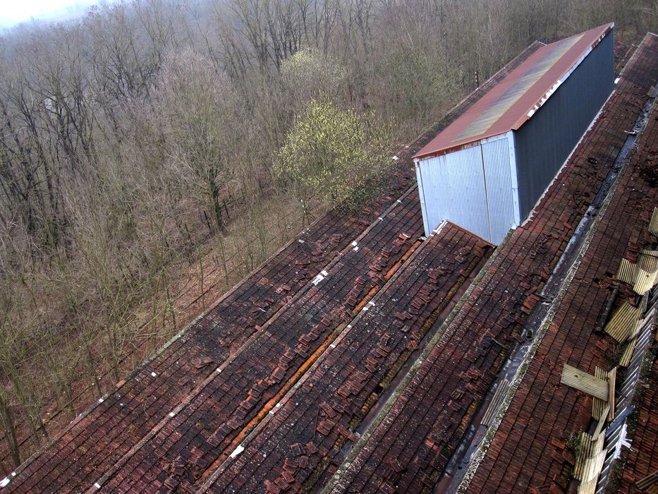
<path id="1" fill-rule="evenodd" d="M 635 141 L 638 139 L 638 135 L 644 130 L 649 121 L 653 104 L 653 98 L 645 102 L 632 130 L 628 131 L 628 136 L 611 170 L 604 179 L 592 204 L 580 219 L 563 254 L 560 256 L 551 276 L 544 285 L 544 289 L 542 289 L 540 294 L 542 302 L 535 307 L 523 327 L 528 334 L 528 339 L 513 352 L 501 370 L 500 377 L 496 380 L 492 390 L 489 392 L 487 402 L 480 407 L 480 411 L 470 424 L 464 440 L 453 455 L 451 462 L 446 466 L 443 481 L 439 482 L 435 491 L 456 492 L 460 489 L 460 484 L 465 481 L 465 475 L 470 470 L 469 467 L 474 459 L 474 454 L 480 448 L 482 441 L 485 440 L 490 430 L 489 426 L 482 425 L 480 421 L 482 421 L 482 417 L 485 415 L 495 418 L 502 406 L 506 406 L 505 402 L 508 402 L 506 398 L 509 398 L 509 396 L 506 397 L 506 394 L 508 394 L 511 383 L 516 379 L 520 366 L 528 359 L 530 352 L 536 350 L 540 344 L 544 335 L 544 332 L 540 332 L 540 329 L 544 327 L 549 313 L 552 309 L 555 310 L 559 306 L 561 299 L 566 294 L 566 288 L 575 274 L 575 268 L 580 264 L 580 260 L 583 258 L 585 251 L 587 251 L 589 242 L 594 234 L 592 227 L 595 226 L 597 219 L 604 213 L 605 207 L 607 207 L 607 199 L 611 198 L 612 193 L 614 193 L 614 185 L 623 170 L 626 158 L 633 149 Z M 468 485 L 468 480 L 465 483 Z"/>

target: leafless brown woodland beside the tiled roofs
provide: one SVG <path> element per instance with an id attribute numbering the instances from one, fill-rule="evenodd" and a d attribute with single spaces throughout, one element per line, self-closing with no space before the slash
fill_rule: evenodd
<path id="1" fill-rule="evenodd" d="M 4 32 L 4 471 L 339 202 L 346 177 L 381 172 L 533 40 L 611 20 L 637 42 L 658 2 L 135 0 Z"/>

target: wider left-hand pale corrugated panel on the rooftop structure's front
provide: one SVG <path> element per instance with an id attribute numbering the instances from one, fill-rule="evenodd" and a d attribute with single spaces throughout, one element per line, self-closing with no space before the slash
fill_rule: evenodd
<path id="1" fill-rule="evenodd" d="M 479 143 L 449 155 L 424 159 L 419 167 L 429 231 L 449 219 L 488 239 L 487 197 Z"/>

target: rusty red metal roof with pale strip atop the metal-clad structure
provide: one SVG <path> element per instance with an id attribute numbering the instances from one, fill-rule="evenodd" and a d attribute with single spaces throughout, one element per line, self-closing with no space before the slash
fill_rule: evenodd
<path id="1" fill-rule="evenodd" d="M 599 26 L 537 49 L 416 155 L 443 155 L 476 140 L 516 131 L 614 28 Z"/>

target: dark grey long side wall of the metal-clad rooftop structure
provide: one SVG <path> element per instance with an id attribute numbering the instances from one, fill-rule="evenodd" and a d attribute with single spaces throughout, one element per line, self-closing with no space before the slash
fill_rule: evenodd
<path id="1" fill-rule="evenodd" d="M 612 92 L 613 46 L 610 32 L 537 113 L 516 131 L 521 221 L 535 207 Z"/>

